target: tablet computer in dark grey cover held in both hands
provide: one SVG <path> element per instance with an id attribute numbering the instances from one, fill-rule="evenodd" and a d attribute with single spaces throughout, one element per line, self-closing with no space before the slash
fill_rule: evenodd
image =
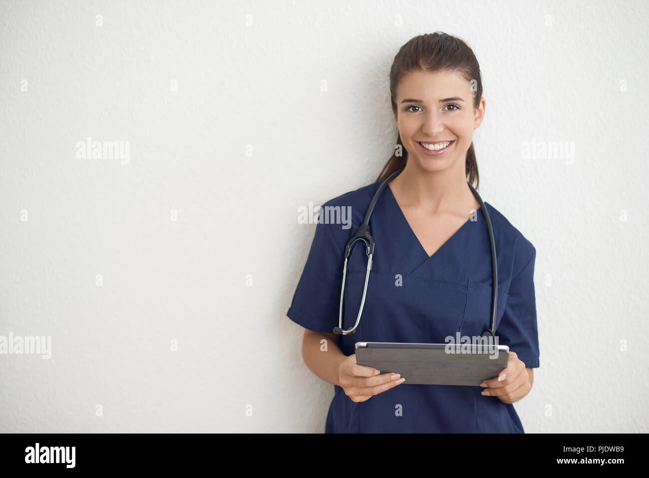
<path id="1" fill-rule="evenodd" d="M 507 367 L 508 346 L 356 342 L 356 363 L 399 373 L 405 384 L 474 385 Z"/>

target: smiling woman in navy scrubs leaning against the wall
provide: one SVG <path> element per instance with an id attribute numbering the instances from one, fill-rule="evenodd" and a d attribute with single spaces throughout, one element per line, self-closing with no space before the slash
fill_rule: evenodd
<path id="1" fill-rule="evenodd" d="M 417 36 L 395 57 L 390 91 L 395 155 L 377 182 L 323 205 L 288 310 L 306 329 L 307 366 L 334 384 L 325 431 L 524 433 L 511 404 L 530 392 L 539 366 L 536 250 L 489 203 L 498 257 L 496 336 L 509 346 L 507 368 L 478 387 L 408 384 L 391 371 L 356 364 L 356 342 L 445 343 L 458 332 L 480 336 L 491 320 L 491 245 L 468 184 L 477 188 L 472 135 L 485 112 L 478 61 L 458 38 Z M 374 192 L 398 170 L 369 223 L 375 249 L 360 325 L 353 334 L 334 334 L 345 245 Z M 351 211 L 351 227 L 324 220 L 322 213 L 337 207 Z M 357 249 L 347 265 L 343 329 L 356 323 L 365 283 L 367 255 L 362 244 Z"/>

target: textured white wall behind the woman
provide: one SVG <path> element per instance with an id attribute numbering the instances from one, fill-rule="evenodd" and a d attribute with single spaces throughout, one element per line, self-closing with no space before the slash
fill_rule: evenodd
<path id="1" fill-rule="evenodd" d="M 645 1 L 3 1 L 0 334 L 52 350 L 0 355 L 0 431 L 323 431 L 333 387 L 285 315 L 315 231 L 297 208 L 373 181 L 391 61 L 437 30 L 484 75 L 480 193 L 537 249 L 526 431 L 649 431 L 647 18 Z M 129 142 L 128 162 L 78 158 L 88 137 Z M 574 157 L 524 158 L 532 141 Z"/>

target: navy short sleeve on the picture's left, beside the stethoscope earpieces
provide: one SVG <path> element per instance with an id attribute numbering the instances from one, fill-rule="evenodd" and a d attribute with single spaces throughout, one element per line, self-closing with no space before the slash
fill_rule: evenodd
<path id="1" fill-rule="evenodd" d="M 340 288 L 343 283 L 341 245 L 334 240 L 332 224 L 317 223 L 304 270 L 286 315 L 314 332 L 332 333 L 338 325 Z"/>

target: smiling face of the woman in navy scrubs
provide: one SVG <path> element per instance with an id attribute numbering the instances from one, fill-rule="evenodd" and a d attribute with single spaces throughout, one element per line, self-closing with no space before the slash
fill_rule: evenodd
<path id="1" fill-rule="evenodd" d="M 471 84 L 459 73 L 412 71 L 397 87 L 395 121 L 401 140 L 411 160 L 423 170 L 461 169 L 465 174 L 467 150 L 473 131 L 484 118 L 485 99 L 473 108 Z M 430 151 L 420 144 L 452 142 L 439 151 Z M 437 146 L 439 147 L 439 146 Z"/>

